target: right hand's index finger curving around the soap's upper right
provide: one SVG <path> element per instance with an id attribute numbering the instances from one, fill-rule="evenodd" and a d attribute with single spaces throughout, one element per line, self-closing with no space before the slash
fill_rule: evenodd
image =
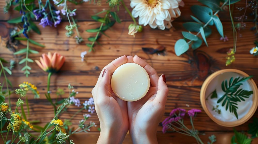
<path id="1" fill-rule="evenodd" d="M 159 76 L 158 76 L 156 70 L 154 68 L 152 68 L 146 61 L 144 61 L 143 59 L 139 58 L 136 55 L 133 57 L 133 61 L 135 64 L 142 66 L 147 71 L 147 73 L 150 77 L 151 85 L 156 87 L 158 79 L 159 79 Z"/>

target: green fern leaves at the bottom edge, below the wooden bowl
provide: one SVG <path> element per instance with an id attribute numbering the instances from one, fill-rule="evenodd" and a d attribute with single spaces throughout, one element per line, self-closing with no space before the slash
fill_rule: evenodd
<path id="1" fill-rule="evenodd" d="M 251 144 L 252 139 L 249 139 L 244 133 L 234 129 L 235 135 L 231 138 L 231 144 Z"/>

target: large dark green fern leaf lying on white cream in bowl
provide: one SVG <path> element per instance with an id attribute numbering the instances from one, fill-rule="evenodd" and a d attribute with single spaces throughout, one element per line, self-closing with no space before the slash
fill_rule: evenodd
<path id="1" fill-rule="evenodd" d="M 245 82 L 246 80 L 252 78 L 253 76 L 249 77 L 243 77 L 240 79 L 240 77 L 237 77 L 233 79 L 233 77 L 230 78 L 229 83 L 227 80 L 223 81 L 221 83 L 221 89 L 225 94 L 219 98 L 217 103 L 222 102 L 222 106 L 226 105 L 225 109 L 226 111 L 229 109 L 231 113 L 234 113 L 236 118 L 238 119 L 237 114 L 237 102 L 245 101 L 244 98 L 249 98 L 251 94 L 253 94 L 253 91 L 247 91 L 243 90 L 242 88 L 238 89 L 241 85 L 243 85 L 242 82 Z"/>

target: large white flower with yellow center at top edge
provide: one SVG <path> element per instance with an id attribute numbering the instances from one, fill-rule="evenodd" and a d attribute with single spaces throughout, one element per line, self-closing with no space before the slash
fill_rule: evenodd
<path id="1" fill-rule="evenodd" d="M 171 28 L 171 22 L 181 15 L 179 3 L 182 0 L 131 0 L 133 17 L 139 16 L 139 24 L 150 25 L 152 29 Z"/>

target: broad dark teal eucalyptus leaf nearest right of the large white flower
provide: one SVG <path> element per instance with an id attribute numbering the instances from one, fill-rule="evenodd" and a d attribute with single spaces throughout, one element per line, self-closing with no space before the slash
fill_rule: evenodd
<path id="1" fill-rule="evenodd" d="M 206 6 L 193 5 L 191 7 L 192 13 L 204 23 L 207 23 L 213 15 L 212 9 Z M 213 21 L 209 22 L 208 25 L 213 25 Z"/>

